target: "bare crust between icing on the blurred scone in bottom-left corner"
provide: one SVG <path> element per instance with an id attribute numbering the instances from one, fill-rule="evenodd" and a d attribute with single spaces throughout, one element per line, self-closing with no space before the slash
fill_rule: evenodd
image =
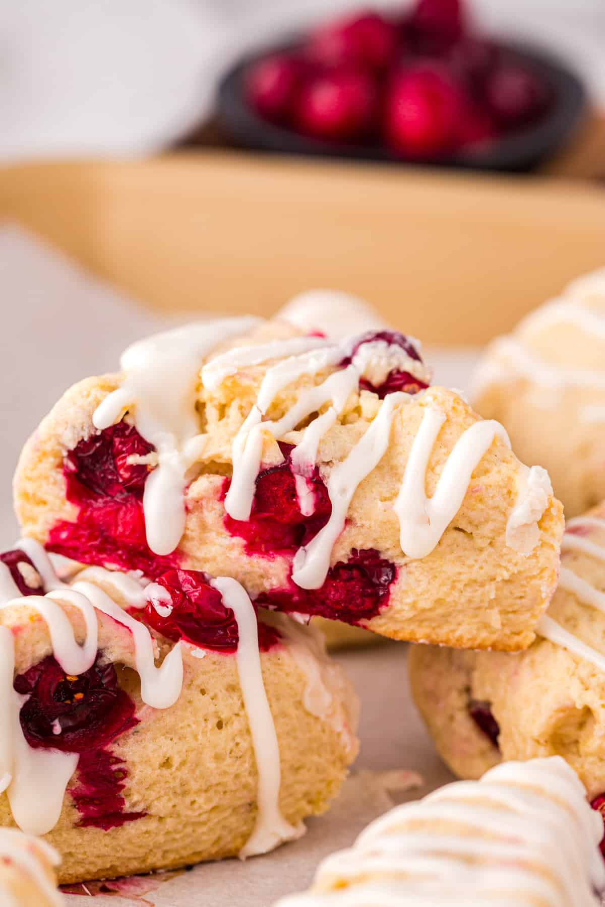
<path id="1" fill-rule="evenodd" d="M 5 839 L 3 835 L 7 831 L 10 835 Z M 6 843 L 10 850 L 6 848 Z M 29 834 L 21 834 L 14 829 L 0 829 L 0 903 L 4 907 L 4 898 L 7 897 L 6 907 L 54 907 L 34 874 L 15 860 L 11 853 L 14 847 L 34 859 L 50 886 L 54 888 L 57 884 L 54 860 L 51 860 L 44 844 Z"/>

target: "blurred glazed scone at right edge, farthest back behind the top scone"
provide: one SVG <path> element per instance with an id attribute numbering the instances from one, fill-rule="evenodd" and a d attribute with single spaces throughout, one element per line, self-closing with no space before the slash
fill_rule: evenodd
<path id="1" fill-rule="evenodd" d="M 568 518 L 605 498 L 605 269 L 494 340 L 474 383 L 477 412 L 548 470 Z"/>

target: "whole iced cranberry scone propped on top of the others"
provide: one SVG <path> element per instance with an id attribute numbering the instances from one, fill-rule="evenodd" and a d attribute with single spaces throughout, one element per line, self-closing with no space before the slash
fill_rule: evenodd
<path id="1" fill-rule="evenodd" d="M 87 563 L 235 578 L 259 605 L 395 639 L 522 649 L 561 505 L 410 338 L 228 319 L 151 337 L 25 445 L 24 534 Z"/>

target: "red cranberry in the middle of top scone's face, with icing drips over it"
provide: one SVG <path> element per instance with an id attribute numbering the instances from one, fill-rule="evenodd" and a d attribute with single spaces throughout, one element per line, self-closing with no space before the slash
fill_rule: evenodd
<path id="1" fill-rule="evenodd" d="M 247 554 L 270 556 L 276 553 L 294 553 L 306 545 L 326 525 L 332 512 L 319 470 L 310 479 L 315 498 L 315 510 L 303 516 L 298 502 L 296 480 L 292 473 L 289 453 L 291 444 L 279 444 L 286 457 L 284 463 L 270 466 L 259 472 L 250 519 L 246 522 L 225 517 L 225 527 L 231 535 L 246 541 Z M 229 489 L 225 482 L 223 494 Z"/>

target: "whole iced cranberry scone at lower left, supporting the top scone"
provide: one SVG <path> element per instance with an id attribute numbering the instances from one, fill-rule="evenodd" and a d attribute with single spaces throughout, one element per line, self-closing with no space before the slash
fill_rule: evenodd
<path id="1" fill-rule="evenodd" d="M 297 838 L 356 756 L 356 697 L 321 638 L 239 583 L 0 555 L 0 824 L 112 878 Z"/>

